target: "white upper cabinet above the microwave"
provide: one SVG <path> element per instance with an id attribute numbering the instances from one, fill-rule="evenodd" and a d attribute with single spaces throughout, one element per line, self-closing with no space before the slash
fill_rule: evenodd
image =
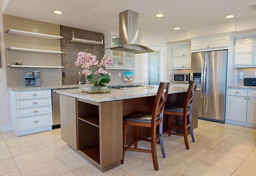
<path id="1" fill-rule="evenodd" d="M 190 69 L 191 49 L 190 43 L 172 45 L 172 69 Z"/>

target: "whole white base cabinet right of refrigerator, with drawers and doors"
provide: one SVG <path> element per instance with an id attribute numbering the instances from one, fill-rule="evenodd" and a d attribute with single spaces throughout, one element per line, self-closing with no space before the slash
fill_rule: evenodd
<path id="1" fill-rule="evenodd" d="M 256 90 L 229 88 L 227 119 L 256 124 Z"/>

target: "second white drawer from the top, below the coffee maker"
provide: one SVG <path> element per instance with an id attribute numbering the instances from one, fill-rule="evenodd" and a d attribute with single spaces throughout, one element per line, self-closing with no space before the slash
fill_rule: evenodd
<path id="1" fill-rule="evenodd" d="M 17 100 L 17 109 L 52 105 L 52 98 Z"/>

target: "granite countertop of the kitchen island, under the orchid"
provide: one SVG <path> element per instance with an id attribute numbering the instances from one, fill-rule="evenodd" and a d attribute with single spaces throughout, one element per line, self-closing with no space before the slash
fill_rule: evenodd
<path id="1" fill-rule="evenodd" d="M 72 96 L 75 98 L 81 98 L 84 100 L 90 100 L 92 102 L 108 102 L 114 100 L 124 100 L 129 98 L 139 98 L 146 96 L 155 96 L 158 90 L 158 85 L 153 85 L 154 88 L 145 89 L 145 90 L 120 90 L 120 89 L 111 89 L 110 93 L 103 94 L 87 94 L 80 92 L 80 90 L 59 90 L 58 94 Z M 169 94 L 175 94 L 180 92 L 187 92 L 188 87 L 178 87 L 170 86 Z M 197 90 L 200 90 L 198 88 Z"/>

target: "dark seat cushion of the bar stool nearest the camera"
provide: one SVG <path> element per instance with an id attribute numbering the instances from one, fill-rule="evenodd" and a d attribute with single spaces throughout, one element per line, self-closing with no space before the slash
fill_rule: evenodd
<path id="1" fill-rule="evenodd" d="M 156 116 L 156 120 L 160 118 L 160 115 Z M 144 122 L 151 123 L 152 112 L 146 111 L 134 111 L 123 117 L 124 121 Z"/>

